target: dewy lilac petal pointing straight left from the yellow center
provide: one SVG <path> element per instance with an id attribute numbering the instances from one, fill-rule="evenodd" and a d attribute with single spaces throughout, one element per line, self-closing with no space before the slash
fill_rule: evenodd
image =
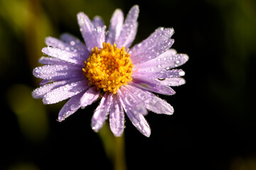
<path id="1" fill-rule="evenodd" d="M 83 77 L 82 69 L 68 65 L 44 65 L 33 69 L 33 75 L 40 79 L 72 79 Z"/>

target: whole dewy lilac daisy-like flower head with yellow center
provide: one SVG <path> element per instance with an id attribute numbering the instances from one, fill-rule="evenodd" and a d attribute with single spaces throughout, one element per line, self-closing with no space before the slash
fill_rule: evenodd
<path id="1" fill-rule="evenodd" d="M 174 108 L 154 93 L 173 95 L 170 86 L 185 83 L 185 73 L 175 67 L 184 64 L 188 55 L 170 49 L 173 28 L 157 28 L 149 38 L 129 48 L 137 33 L 139 6 L 133 6 L 127 18 L 121 10 L 114 11 L 110 30 L 102 18 L 92 21 L 78 13 L 78 23 L 85 44 L 65 33 L 60 40 L 46 38 L 41 57 L 44 64 L 33 69 L 33 75 L 43 79 L 32 93 L 52 104 L 70 98 L 60 110 L 58 121 L 101 98 L 92 115 L 92 130 L 97 132 L 110 117 L 110 129 L 115 136 L 124 131 L 124 112 L 133 125 L 149 137 L 151 130 L 144 115 L 149 111 L 171 115 Z"/>

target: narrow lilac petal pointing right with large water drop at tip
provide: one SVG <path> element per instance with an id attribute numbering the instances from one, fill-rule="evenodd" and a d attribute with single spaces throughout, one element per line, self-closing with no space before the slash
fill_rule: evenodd
<path id="1" fill-rule="evenodd" d="M 135 78 L 142 78 L 142 79 L 148 79 L 150 76 L 150 79 L 166 79 L 166 78 L 174 78 L 174 77 L 182 77 L 185 75 L 185 72 L 182 69 L 171 69 L 171 70 L 162 70 L 162 71 L 156 71 L 154 68 L 145 70 L 144 72 L 134 72 L 132 74 L 132 77 Z"/>

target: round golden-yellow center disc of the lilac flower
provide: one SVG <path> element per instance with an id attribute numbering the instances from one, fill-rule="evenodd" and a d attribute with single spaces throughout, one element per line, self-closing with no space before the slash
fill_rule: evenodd
<path id="1" fill-rule="evenodd" d="M 134 65 L 124 47 L 118 48 L 116 44 L 110 45 L 109 42 L 103 42 L 102 45 L 100 49 L 92 48 L 82 72 L 90 86 L 116 94 L 120 86 L 132 81 Z"/>

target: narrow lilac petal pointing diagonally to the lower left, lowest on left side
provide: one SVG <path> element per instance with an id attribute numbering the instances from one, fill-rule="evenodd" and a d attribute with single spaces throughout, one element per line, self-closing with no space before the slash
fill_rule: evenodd
<path id="1" fill-rule="evenodd" d="M 80 98 L 82 96 L 83 92 L 81 92 L 78 95 L 73 96 L 70 98 L 67 103 L 61 108 L 60 113 L 58 115 L 58 121 L 61 122 L 65 120 L 65 118 L 68 118 L 68 116 L 72 115 L 76 111 L 78 111 L 78 108 L 80 108 Z"/>

